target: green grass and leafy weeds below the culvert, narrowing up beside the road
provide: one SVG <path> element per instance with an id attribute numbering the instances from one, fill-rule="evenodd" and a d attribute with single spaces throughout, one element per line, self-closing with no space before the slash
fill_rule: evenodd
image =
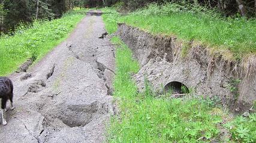
<path id="1" fill-rule="evenodd" d="M 103 16 L 106 30 L 117 30 L 116 12 Z M 120 114 L 113 116 L 107 129 L 108 142 L 255 142 L 255 115 L 249 118 L 230 116 L 215 100 L 184 98 L 167 100 L 156 98 L 149 83 L 146 91 L 138 93 L 131 75 L 139 66 L 132 52 L 121 39 L 114 37 L 116 76 L 114 97 Z M 146 80 L 147 81 L 147 80 Z M 226 123 L 226 124 L 220 124 Z M 222 130 L 231 136 L 223 136 Z"/>

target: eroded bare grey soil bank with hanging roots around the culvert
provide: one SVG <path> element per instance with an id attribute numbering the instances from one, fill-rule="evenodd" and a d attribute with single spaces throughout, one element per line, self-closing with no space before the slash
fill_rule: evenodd
<path id="1" fill-rule="evenodd" d="M 144 87 L 144 78 L 156 91 L 171 82 L 174 86 L 173 82 L 182 83 L 197 95 L 217 96 L 223 105 L 241 112 L 249 110 L 256 100 L 255 55 L 241 62 L 226 60 L 219 52 L 193 41 L 152 36 L 126 24 L 118 24 L 117 34 L 140 63 L 141 69 L 134 76 L 139 89 Z"/>

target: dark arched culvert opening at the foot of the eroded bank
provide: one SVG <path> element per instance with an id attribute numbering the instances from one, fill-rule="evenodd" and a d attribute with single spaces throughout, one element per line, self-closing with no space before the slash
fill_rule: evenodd
<path id="1" fill-rule="evenodd" d="M 181 82 L 173 81 L 164 86 L 164 92 L 171 94 L 189 94 L 188 87 Z"/>

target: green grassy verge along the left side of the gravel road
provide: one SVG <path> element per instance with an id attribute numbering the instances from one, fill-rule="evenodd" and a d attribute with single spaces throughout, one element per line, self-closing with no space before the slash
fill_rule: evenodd
<path id="1" fill-rule="evenodd" d="M 30 57 L 37 61 L 68 37 L 85 16 L 86 10 L 73 10 L 52 21 L 35 21 L 32 27 L 18 27 L 14 36 L 0 38 L 0 76 L 16 70 Z"/>

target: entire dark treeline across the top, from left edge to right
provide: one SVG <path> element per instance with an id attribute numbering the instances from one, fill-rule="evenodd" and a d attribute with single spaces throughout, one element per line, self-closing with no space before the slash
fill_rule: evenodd
<path id="1" fill-rule="evenodd" d="M 255 17 L 256 0 L 0 0 L 0 35 L 14 30 L 20 22 L 31 23 L 35 18 L 58 18 L 74 7 L 110 7 L 118 5 L 122 10 L 133 11 L 155 2 L 175 2 L 187 9 L 203 7 L 218 10 L 224 16 Z"/>

